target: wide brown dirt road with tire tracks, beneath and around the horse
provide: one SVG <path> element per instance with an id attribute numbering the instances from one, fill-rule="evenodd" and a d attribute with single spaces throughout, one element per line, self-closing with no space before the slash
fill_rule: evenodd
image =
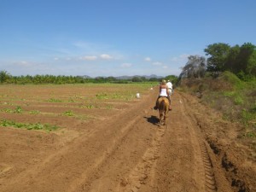
<path id="1" fill-rule="evenodd" d="M 186 99 L 173 96 L 168 125 L 156 124 L 157 89 L 77 137 L 2 189 L 9 191 L 216 191 L 207 146 Z M 181 103 L 180 103 L 181 102 Z"/>

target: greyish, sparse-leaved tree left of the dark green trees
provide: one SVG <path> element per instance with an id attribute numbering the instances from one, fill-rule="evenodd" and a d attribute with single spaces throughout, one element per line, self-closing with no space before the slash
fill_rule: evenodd
<path id="1" fill-rule="evenodd" d="M 207 61 L 204 56 L 190 55 L 189 61 L 183 67 L 180 78 L 202 78 L 207 70 Z"/>

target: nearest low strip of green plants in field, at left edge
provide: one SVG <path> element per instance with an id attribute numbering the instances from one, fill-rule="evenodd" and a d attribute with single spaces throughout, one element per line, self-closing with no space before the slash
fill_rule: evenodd
<path id="1" fill-rule="evenodd" d="M 30 124 L 30 123 L 18 123 L 13 120 L 2 119 L 0 121 L 1 126 L 11 126 L 19 129 L 26 129 L 26 130 L 44 130 L 44 131 L 55 131 L 58 129 L 56 125 L 49 125 L 49 124 Z"/>

